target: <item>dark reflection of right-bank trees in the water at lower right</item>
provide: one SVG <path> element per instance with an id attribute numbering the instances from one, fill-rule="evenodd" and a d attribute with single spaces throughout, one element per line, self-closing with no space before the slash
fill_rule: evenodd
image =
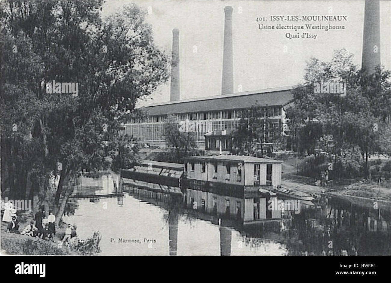
<path id="1" fill-rule="evenodd" d="M 318 219 L 311 218 L 310 210 L 295 215 L 291 228 L 282 232 L 288 255 L 391 254 L 390 233 L 368 231 L 368 211 L 341 206 L 328 209 L 330 213 Z M 332 217 L 328 218 L 330 215 Z"/>

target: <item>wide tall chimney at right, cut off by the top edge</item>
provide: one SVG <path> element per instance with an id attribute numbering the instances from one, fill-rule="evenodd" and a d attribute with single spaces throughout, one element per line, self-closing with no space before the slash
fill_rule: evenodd
<path id="1" fill-rule="evenodd" d="M 380 9 L 378 0 L 366 0 L 361 68 L 373 73 L 380 65 Z"/>

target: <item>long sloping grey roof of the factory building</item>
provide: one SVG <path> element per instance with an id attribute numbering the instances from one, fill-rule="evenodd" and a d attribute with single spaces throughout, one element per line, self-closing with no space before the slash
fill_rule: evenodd
<path id="1" fill-rule="evenodd" d="M 255 103 L 268 106 L 284 106 L 293 96 L 292 86 L 245 91 L 242 93 L 223 94 L 203 98 L 169 101 L 141 107 L 149 115 L 178 114 L 187 112 L 203 112 L 213 110 L 228 110 L 249 108 Z"/>

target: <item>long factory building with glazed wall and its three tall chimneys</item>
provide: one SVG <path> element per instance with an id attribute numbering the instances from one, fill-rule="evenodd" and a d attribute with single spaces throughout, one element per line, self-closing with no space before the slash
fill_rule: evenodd
<path id="1" fill-rule="evenodd" d="M 378 1 L 366 1 L 364 13 L 362 68 L 373 72 L 380 64 L 380 21 Z M 285 109 L 292 102 L 293 86 L 233 93 L 233 48 L 232 48 L 232 7 L 224 8 L 224 46 L 222 62 L 221 94 L 204 98 L 180 100 L 179 93 L 179 30 L 172 30 L 172 68 L 170 101 L 156 103 L 141 110 L 149 117 L 133 118 L 124 124 L 124 132 L 150 144 L 165 144 L 164 120 L 167 115 L 175 115 L 180 123 L 212 126 L 213 130 L 231 132 L 237 128 L 240 114 L 253 105 L 264 108 L 265 141 L 284 143 L 287 129 Z M 200 148 L 205 148 L 205 134 L 202 127 L 187 127 L 195 136 Z"/>

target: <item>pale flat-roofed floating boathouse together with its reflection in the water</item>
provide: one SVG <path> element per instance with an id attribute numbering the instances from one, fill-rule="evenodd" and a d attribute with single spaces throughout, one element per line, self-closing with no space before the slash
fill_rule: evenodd
<path id="1" fill-rule="evenodd" d="M 281 184 L 282 161 L 239 155 L 185 158 L 183 198 L 208 213 L 236 217 L 245 223 L 281 218 L 280 210 L 268 210 Z"/>

